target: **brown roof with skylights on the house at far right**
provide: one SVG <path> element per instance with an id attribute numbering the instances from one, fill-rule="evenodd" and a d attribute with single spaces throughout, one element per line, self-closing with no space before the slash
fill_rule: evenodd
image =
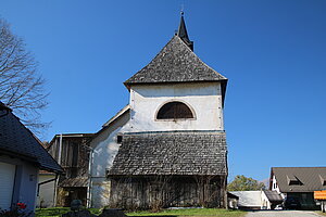
<path id="1" fill-rule="evenodd" d="M 326 189 L 326 167 L 272 167 L 271 174 L 271 178 L 275 175 L 280 192 Z"/>

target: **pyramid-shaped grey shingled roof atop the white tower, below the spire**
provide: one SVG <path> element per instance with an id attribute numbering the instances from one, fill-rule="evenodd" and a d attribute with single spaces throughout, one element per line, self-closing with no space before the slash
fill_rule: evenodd
<path id="1" fill-rule="evenodd" d="M 203 63 L 190 48 L 175 35 L 160 53 L 124 84 L 227 81 L 227 78 Z"/>

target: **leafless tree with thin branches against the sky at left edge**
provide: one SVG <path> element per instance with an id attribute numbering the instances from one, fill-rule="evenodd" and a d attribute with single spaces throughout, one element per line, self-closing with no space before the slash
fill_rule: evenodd
<path id="1" fill-rule="evenodd" d="M 0 101 L 37 133 L 49 126 L 40 120 L 40 111 L 48 105 L 43 86 L 45 79 L 37 74 L 37 63 L 24 41 L 0 18 Z"/>

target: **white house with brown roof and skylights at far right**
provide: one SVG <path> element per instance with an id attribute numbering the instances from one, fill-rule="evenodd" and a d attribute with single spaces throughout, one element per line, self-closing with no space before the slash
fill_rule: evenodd
<path id="1" fill-rule="evenodd" d="M 326 189 L 326 167 L 272 167 L 269 190 L 297 197 L 302 209 L 318 209 L 314 191 Z"/>

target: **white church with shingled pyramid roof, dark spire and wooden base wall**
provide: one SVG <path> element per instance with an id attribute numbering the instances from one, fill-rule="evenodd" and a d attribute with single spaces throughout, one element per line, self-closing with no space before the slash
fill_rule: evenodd
<path id="1" fill-rule="evenodd" d="M 98 137 L 117 118 L 127 120 L 93 145 L 96 173 L 100 176 L 99 168 L 108 168 L 109 205 L 226 207 L 227 78 L 195 54 L 184 14 L 166 46 L 124 85 L 129 105 Z"/>

